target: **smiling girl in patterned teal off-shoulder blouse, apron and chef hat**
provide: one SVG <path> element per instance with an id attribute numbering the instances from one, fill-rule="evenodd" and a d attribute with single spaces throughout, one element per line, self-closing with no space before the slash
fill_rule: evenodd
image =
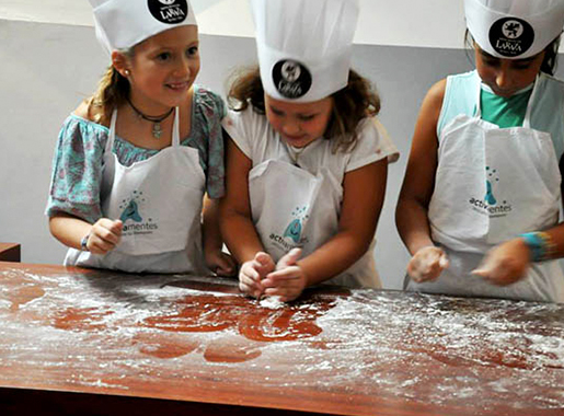
<path id="1" fill-rule="evenodd" d="M 194 85 L 199 45 L 189 2 L 90 2 L 112 65 L 57 143 L 47 215 L 70 247 L 65 263 L 229 274 L 212 200 L 202 235 L 204 195 L 225 192 L 225 108 Z"/>

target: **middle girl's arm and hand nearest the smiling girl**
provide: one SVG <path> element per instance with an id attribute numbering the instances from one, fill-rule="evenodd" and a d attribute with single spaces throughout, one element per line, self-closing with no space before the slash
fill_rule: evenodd
<path id="1" fill-rule="evenodd" d="M 274 270 L 274 262 L 264 253 L 256 233 L 249 197 L 252 161 L 229 139 L 227 146 L 227 193 L 220 201 L 220 226 L 225 242 L 241 264 L 240 289 L 256 298 L 263 293 L 262 278 Z"/>

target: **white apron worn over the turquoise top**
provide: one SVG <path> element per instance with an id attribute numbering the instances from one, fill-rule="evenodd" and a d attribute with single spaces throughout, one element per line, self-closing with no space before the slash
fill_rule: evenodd
<path id="1" fill-rule="evenodd" d="M 436 281 L 408 281 L 410 290 L 564 301 L 557 261 L 532 264 L 525 279 L 507 287 L 471 275 L 487 250 L 559 221 L 554 146 L 550 134 L 530 126 L 537 84 L 522 127 L 500 129 L 482 120 L 479 96 L 474 117 L 459 115 L 444 128 L 428 217 L 431 239 L 446 250 L 450 265 Z"/>

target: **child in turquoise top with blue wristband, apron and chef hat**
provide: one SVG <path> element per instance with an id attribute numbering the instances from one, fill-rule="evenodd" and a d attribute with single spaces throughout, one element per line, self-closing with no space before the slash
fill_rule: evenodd
<path id="1" fill-rule="evenodd" d="M 425 97 L 396 222 L 410 290 L 564 301 L 562 0 L 465 0 L 474 71 Z"/>

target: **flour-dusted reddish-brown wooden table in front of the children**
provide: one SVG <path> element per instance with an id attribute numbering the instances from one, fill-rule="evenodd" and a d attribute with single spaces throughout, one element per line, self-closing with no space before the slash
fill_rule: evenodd
<path id="1" fill-rule="evenodd" d="M 0 263 L 0 408 L 564 415 L 564 305 Z"/>

